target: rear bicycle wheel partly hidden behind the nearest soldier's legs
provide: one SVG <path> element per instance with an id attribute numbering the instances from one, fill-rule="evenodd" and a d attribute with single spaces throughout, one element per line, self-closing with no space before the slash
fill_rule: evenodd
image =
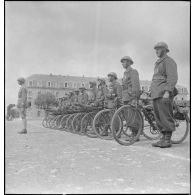
<path id="1" fill-rule="evenodd" d="M 187 115 L 187 113 L 184 113 L 184 120 L 175 120 L 175 126 L 176 130 L 173 132 L 171 137 L 171 143 L 172 144 L 180 144 L 182 143 L 190 130 L 190 119 Z"/>

